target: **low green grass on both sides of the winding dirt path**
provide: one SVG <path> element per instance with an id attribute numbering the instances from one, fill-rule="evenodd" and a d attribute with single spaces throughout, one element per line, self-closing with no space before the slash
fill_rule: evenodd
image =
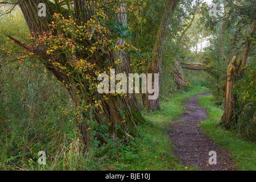
<path id="1" fill-rule="evenodd" d="M 187 92 L 175 94 L 174 97 L 164 97 L 160 100 L 160 111 L 142 110 L 147 123 L 138 126 L 140 138 L 128 142 L 113 142 L 102 147 L 92 147 L 89 152 L 79 151 L 77 140 L 69 139 L 69 134 L 64 135 L 63 143 L 56 152 L 48 152 L 47 165 L 39 166 L 37 152 L 28 160 L 19 157 L 22 166 L 4 166 L 2 169 L 18 170 L 138 170 L 138 171 L 188 171 L 198 170 L 195 167 L 185 167 L 173 154 L 175 147 L 172 145 L 167 129 L 171 120 L 179 117 L 183 111 L 183 100 L 201 93 L 208 93 L 209 89 L 196 86 Z M 236 134 L 222 129 L 218 124 L 222 115 L 221 108 L 212 105 L 212 96 L 199 98 L 201 106 L 207 109 L 209 118 L 200 127 L 205 133 L 220 146 L 226 148 L 236 160 L 236 169 L 255 170 L 255 151 L 253 143 L 245 142 Z M 183 122 L 183 121 L 179 121 Z M 65 136 L 67 139 L 65 139 Z M 72 137 L 71 137 L 72 138 Z M 72 142 L 70 142 L 72 141 Z M 54 143 L 53 143 L 54 144 Z M 31 148 L 32 151 L 35 148 Z M 16 158 L 16 160 L 19 160 Z M 6 165 L 9 163 L 6 163 Z M 1 163 L 0 163 L 1 169 Z"/>

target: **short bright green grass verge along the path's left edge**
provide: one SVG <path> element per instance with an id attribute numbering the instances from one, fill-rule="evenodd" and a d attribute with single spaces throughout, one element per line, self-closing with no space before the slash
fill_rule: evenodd
<path id="1" fill-rule="evenodd" d="M 180 159 L 172 155 L 175 147 L 167 135 L 167 129 L 171 125 L 171 119 L 184 112 L 182 101 L 185 98 L 207 92 L 207 88 L 197 86 L 172 98 L 162 98 L 160 111 L 142 110 L 147 123 L 138 126 L 141 137 L 122 146 L 117 143 L 108 144 L 93 155 L 90 164 L 95 166 L 97 163 L 98 166 L 94 168 L 100 170 L 198 170 L 182 166 Z M 97 157 L 104 160 L 98 163 Z"/>

